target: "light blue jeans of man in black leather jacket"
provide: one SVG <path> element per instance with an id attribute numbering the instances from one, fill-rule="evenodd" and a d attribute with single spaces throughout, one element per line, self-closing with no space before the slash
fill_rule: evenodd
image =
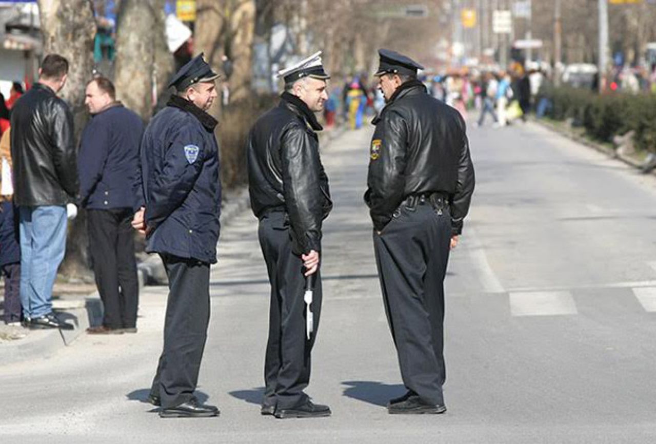
<path id="1" fill-rule="evenodd" d="M 20 302 L 23 316 L 52 311 L 52 285 L 66 252 L 66 207 L 20 207 Z"/>

